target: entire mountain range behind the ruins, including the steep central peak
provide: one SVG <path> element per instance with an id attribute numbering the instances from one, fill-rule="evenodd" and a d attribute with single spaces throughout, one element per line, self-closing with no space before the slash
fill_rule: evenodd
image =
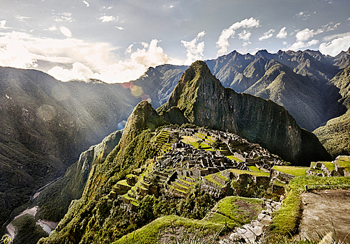
<path id="1" fill-rule="evenodd" d="M 206 61 L 200 86 L 195 66 L 157 66 L 123 84 L 59 82 L 38 70 L 0 67 L 0 222 L 82 151 L 123 128 L 145 99 L 162 120 L 236 132 L 296 165 L 328 159 L 321 144 L 333 157 L 349 154 L 349 60 L 350 48 L 335 57 L 231 52 Z"/>

